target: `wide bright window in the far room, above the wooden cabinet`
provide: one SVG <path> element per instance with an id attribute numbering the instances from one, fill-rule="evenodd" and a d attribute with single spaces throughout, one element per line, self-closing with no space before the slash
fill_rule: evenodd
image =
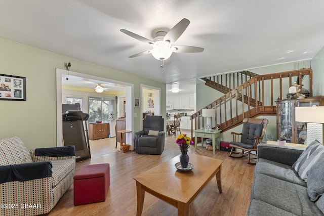
<path id="1" fill-rule="evenodd" d="M 89 97 L 89 122 L 113 120 L 115 116 L 114 98 Z"/>

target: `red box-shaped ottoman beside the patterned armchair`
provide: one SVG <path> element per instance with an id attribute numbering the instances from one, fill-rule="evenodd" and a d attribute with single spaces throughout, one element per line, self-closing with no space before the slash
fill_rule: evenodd
<path id="1" fill-rule="evenodd" d="M 83 166 L 73 179 L 74 205 L 105 201 L 110 186 L 109 163 Z"/>

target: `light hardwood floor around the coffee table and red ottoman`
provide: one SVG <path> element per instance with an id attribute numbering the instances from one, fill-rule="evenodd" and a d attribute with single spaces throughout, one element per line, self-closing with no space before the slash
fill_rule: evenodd
<path id="1" fill-rule="evenodd" d="M 175 135 L 167 136 L 165 150 L 161 155 L 118 152 L 115 149 L 115 138 L 91 141 L 92 158 L 77 162 L 76 171 L 88 164 L 109 163 L 110 188 L 106 201 L 74 206 L 72 184 L 52 211 L 46 215 L 136 215 L 136 183 L 133 178 L 180 154 L 175 139 Z M 213 155 L 213 151 L 208 151 L 206 148 L 198 147 L 195 152 L 194 147 L 190 147 L 188 152 L 224 161 L 222 164 L 223 193 L 219 194 L 216 178 L 212 179 L 190 205 L 189 215 L 246 215 L 255 166 L 249 165 L 247 158 L 230 158 L 229 152 L 225 151 L 216 151 Z M 178 215 L 178 211 L 175 207 L 145 193 L 142 215 L 173 216 Z"/>

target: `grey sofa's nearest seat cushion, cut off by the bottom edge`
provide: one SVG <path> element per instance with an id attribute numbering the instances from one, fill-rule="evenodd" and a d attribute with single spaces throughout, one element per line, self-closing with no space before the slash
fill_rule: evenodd
<path id="1" fill-rule="evenodd" d="M 277 208 L 269 203 L 263 202 L 261 200 L 254 199 L 250 203 L 250 207 L 248 210 L 248 215 L 252 216 L 273 216 L 273 215 L 280 215 L 280 216 L 294 216 L 295 214 L 290 213 L 284 209 Z"/>

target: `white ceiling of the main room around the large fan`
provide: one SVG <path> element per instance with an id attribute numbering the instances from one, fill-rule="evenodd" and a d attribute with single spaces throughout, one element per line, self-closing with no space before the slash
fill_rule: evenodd
<path id="1" fill-rule="evenodd" d="M 0 37 L 164 83 L 312 59 L 324 46 L 322 0 L 0 0 L 0 5 Z M 128 58 L 151 47 L 119 29 L 153 39 L 156 30 L 169 30 L 183 18 L 191 23 L 175 45 L 202 47 L 203 53 L 173 53 L 164 70 L 150 54 Z"/>

